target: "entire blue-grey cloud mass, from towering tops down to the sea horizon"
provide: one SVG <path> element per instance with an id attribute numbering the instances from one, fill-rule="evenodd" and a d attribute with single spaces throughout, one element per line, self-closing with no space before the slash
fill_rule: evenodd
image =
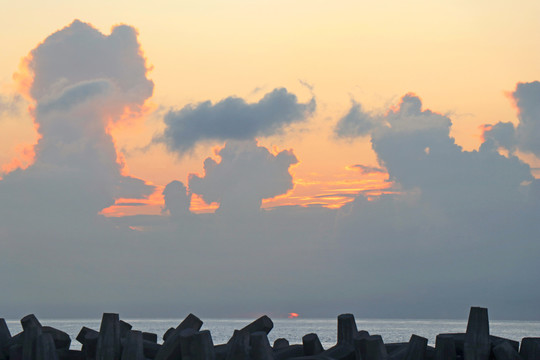
<path id="1" fill-rule="evenodd" d="M 540 319 L 540 185 L 514 155 L 538 155 L 537 82 L 513 94 L 519 125 L 486 127 L 472 152 L 414 95 L 384 116 L 354 103 L 336 135 L 369 136 L 398 194 L 358 195 L 338 210 L 260 209 L 292 188 L 297 158 L 254 138 L 305 120 L 314 100 L 278 89 L 255 104 L 171 111 L 160 141 L 179 153 L 227 141 L 219 159 L 188 184 L 168 184 L 162 216 L 107 219 L 97 214 L 114 199 L 152 191 L 121 174 L 105 131 L 152 93 L 136 33 L 120 26 L 104 36 L 74 22 L 32 55 L 41 139 L 34 164 L 0 181 L 3 316 L 464 318 L 482 305 L 495 318 Z M 220 209 L 190 213 L 194 193 Z"/>

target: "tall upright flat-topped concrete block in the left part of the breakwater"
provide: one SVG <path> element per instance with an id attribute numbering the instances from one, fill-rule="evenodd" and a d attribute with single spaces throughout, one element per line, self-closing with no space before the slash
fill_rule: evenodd
<path id="1" fill-rule="evenodd" d="M 104 313 L 99 328 L 96 360 L 119 360 L 120 354 L 120 318 L 118 314 Z"/>

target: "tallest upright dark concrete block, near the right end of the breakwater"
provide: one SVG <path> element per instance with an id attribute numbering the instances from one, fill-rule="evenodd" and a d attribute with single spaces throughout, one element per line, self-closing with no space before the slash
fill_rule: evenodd
<path id="1" fill-rule="evenodd" d="M 465 333 L 465 360 L 489 360 L 491 341 L 486 308 L 471 307 L 467 332 Z"/>

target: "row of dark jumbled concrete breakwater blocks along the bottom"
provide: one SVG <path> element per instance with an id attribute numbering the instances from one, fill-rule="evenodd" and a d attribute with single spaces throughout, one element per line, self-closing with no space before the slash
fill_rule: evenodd
<path id="1" fill-rule="evenodd" d="M 321 327 L 313 327 L 315 330 L 317 330 L 317 332 L 322 331 L 322 333 L 319 334 L 323 335 L 321 339 L 325 339 L 323 340 L 323 348 L 316 334 L 310 333 L 306 334 L 303 338 L 301 337 L 301 334 L 313 331 L 312 326 L 300 325 L 297 329 L 296 335 L 292 335 L 293 332 L 290 331 L 291 328 L 289 328 L 289 331 L 283 331 L 284 329 L 287 329 L 287 326 L 285 325 L 283 320 L 277 322 L 277 330 L 274 330 L 274 332 L 270 334 L 270 338 L 276 339 L 278 336 L 284 336 L 289 338 L 289 336 L 291 336 L 293 341 L 296 342 L 296 344 L 289 344 L 286 339 L 277 339 L 276 341 L 274 341 L 273 345 L 270 345 L 267 335 L 274 327 L 274 324 L 266 316 L 257 319 L 256 321 L 248 324 L 247 326 L 244 326 L 247 322 L 241 322 L 237 320 L 235 321 L 235 323 L 233 323 L 232 326 L 229 327 L 230 330 L 227 330 L 225 328 L 225 331 L 223 331 L 223 329 L 217 331 L 217 333 L 214 333 L 214 339 L 217 337 L 218 342 L 226 342 L 226 344 L 216 345 L 212 341 L 212 337 L 210 336 L 210 333 L 208 331 L 200 331 L 202 327 L 202 321 L 194 315 L 189 315 L 184 321 L 180 323 L 180 325 L 174 325 L 175 327 L 169 329 L 168 331 L 165 331 L 165 329 L 168 326 L 173 325 L 174 322 L 169 321 L 168 326 L 162 326 L 160 328 L 152 325 L 147 326 L 147 321 L 129 320 L 130 322 L 135 324 L 135 327 L 139 329 L 142 328 L 146 331 L 152 331 L 157 333 L 152 334 L 149 332 L 137 331 L 136 329 L 132 328 L 132 326 L 127 322 L 120 320 L 117 314 L 104 314 L 101 325 L 99 323 L 99 320 L 75 322 L 74 325 L 72 325 L 71 327 L 72 330 L 70 330 L 69 332 L 70 334 L 72 334 L 73 338 L 76 339 L 76 341 L 71 344 L 71 339 L 69 335 L 58 329 L 54 329 L 48 326 L 42 326 L 35 318 L 35 316 L 28 315 L 24 317 L 20 322 L 22 325 L 22 331 L 14 336 L 11 336 L 11 334 L 9 334 L 9 330 L 5 326 L 5 321 L 3 319 L 0 319 L 0 359 L 50 358 L 59 360 L 121 360 L 140 358 L 191 360 L 191 358 L 196 358 L 201 360 L 236 360 L 236 358 L 241 358 L 241 360 L 257 360 L 259 358 L 265 358 L 272 360 L 371 360 L 372 358 L 381 358 L 388 360 L 411 360 L 418 358 L 431 360 L 448 358 L 461 360 L 477 358 L 482 359 L 482 356 L 484 356 L 485 358 L 485 353 L 488 353 L 487 359 L 490 360 L 506 358 L 527 360 L 540 359 L 538 357 L 540 354 L 538 339 L 525 338 L 520 342 L 517 342 L 509 339 L 502 339 L 491 336 L 489 333 L 487 309 L 482 308 L 471 309 L 467 331 L 464 333 L 439 334 L 436 338 L 436 342 L 434 342 L 435 334 L 438 333 L 435 332 L 437 326 L 434 326 L 432 335 L 430 335 L 430 345 L 434 346 L 428 346 L 427 339 L 424 339 L 417 335 L 411 336 L 408 342 L 396 343 L 395 341 L 407 341 L 407 339 L 409 339 L 408 336 L 401 336 L 397 338 L 394 337 L 394 342 L 384 343 L 382 341 L 382 338 L 378 335 L 371 335 L 366 331 L 358 331 L 358 329 L 356 328 L 356 321 L 354 320 L 354 316 L 350 314 L 340 315 L 337 320 L 338 329 L 336 332 L 334 332 L 334 336 L 331 335 L 331 328 L 335 327 L 335 322 L 332 326 L 331 322 L 327 320 L 327 324 L 329 324 L 331 327 L 325 327 L 324 331 Z M 52 324 L 55 326 L 60 325 L 60 327 L 63 328 L 63 325 L 59 322 L 50 322 L 52 322 Z M 176 324 L 178 324 L 178 322 L 180 322 L 180 320 L 177 320 Z M 387 322 L 390 324 L 389 321 Z M 88 323 L 90 324 L 88 325 Z M 205 327 L 208 327 L 208 324 L 211 323 L 212 321 L 205 324 Z M 14 326 L 14 324 L 16 324 L 16 321 L 9 321 L 9 324 L 11 324 L 10 328 L 12 332 L 18 332 L 21 330 L 20 327 L 17 328 L 17 326 Z M 150 322 L 150 324 L 152 323 Z M 361 327 L 367 325 L 366 320 L 361 320 L 358 322 L 358 324 L 360 324 Z M 461 322 L 461 324 L 461 326 L 454 326 L 453 329 L 451 327 L 449 329 L 448 326 L 442 326 L 442 328 L 447 332 L 448 330 L 452 332 L 461 331 L 462 327 L 463 329 L 465 328 L 465 322 Z M 479 326 L 479 324 L 482 326 Z M 99 331 L 86 328 L 82 325 L 88 325 L 95 329 L 99 328 Z M 501 325 L 497 322 L 495 322 L 495 325 L 498 325 L 499 329 L 498 331 L 497 329 L 495 329 L 495 332 L 500 334 Z M 282 329 L 282 326 L 285 327 Z M 396 323 L 396 326 L 396 329 L 400 328 L 399 322 Z M 232 329 L 236 327 L 238 327 L 239 330 L 234 331 L 234 334 L 231 334 L 233 332 Z M 107 331 L 108 328 L 112 328 L 113 330 Z M 370 326 L 367 326 L 367 328 L 372 330 Z M 475 328 L 479 330 L 473 331 Z M 81 330 L 77 335 L 78 329 Z M 512 329 L 512 327 L 509 329 Z M 524 326 L 523 328 L 520 326 L 517 329 L 522 329 L 521 334 L 519 334 L 518 332 L 507 332 L 507 334 L 504 336 L 506 337 L 510 335 L 509 337 L 512 337 L 514 339 L 520 339 L 525 335 L 532 335 L 530 333 L 537 333 L 534 328 L 528 328 L 527 326 Z M 402 328 L 402 330 L 404 329 Z M 384 330 L 382 331 L 383 334 L 387 334 L 386 332 L 384 332 Z M 411 334 L 415 331 L 420 331 L 420 333 L 422 333 L 422 330 L 417 329 L 416 326 L 410 326 L 407 330 L 403 332 L 403 335 Z M 194 334 L 190 334 L 191 332 L 194 332 Z M 262 332 L 264 335 L 255 334 L 258 332 Z M 171 337 L 171 335 L 175 333 L 177 334 L 177 336 Z M 183 334 L 181 334 L 180 336 L 180 333 Z M 345 333 L 349 333 L 352 335 L 344 336 Z M 511 335 L 512 333 L 514 334 L 513 336 Z M 232 336 L 227 336 L 227 334 L 231 334 Z M 467 334 L 469 334 L 469 339 L 466 341 Z M 477 335 L 475 335 L 475 337 L 472 337 L 471 334 Z M 482 338 L 484 338 L 485 340 L 486 334 L 487 338 L 489 339 L 489 352 L 486 350 L 488 347 L 485 345 L 486 341 L 474 340 Z M 50 337 L 52 337 L 52 342 L 44 340 L 46 338 L 49 338 L 49 335 Z M 336 335 L 337 343 L 335 337 Z M 138 337 L 141 337 L 142 341 L 138 341 Z M 118 338 L 119 340 L 115 340 L 116 338 Z M 131 342 L 130 338 L 132 338 Z M 206 345 L 202 346 L 201 339 L 204 338 L 206 338 L 206 340 L 204 340 L 203 343 L 205 343 Z M 392 338 L 392 336 L 390 336 L 390 338 Z M 26 339 L 26 341 L 24 341 L 24 339 Z M 98 341 L 99 339 L 102 340 Z M 238 341 L 240 341 L 240 344 L 234 345 L 235 342 Z M 49 345 L 43 346 L 46 345 L 47 342 Z M 99 346 L 98 342 L 100 343 Z M 158 342 L 163 343 L 160 344 Z M 184 349 L 184 347 L 182 346 L 182 342 L 184 343 L 184 345 L 187 346 L 186 349 L 193 347 L 193 344 L 199 345 L 195 346 L 195 350 L 189 353 L 186 352 L 187 350 Z M 25 349 L 25 343 L 26 352 L 23 351 Z M 475 345 L 471 346 L 471 344 L 473 343 Z M 72 348 L 80 348 L 81 350 L 70 350 L 70 344 Z M 468 345 L 465 346 L 465 344 Z M 510 350 L 510 348 L 508 348 L 506 344 L 509 344 L 512 350 Z M 176 351 L 168 354 L 167 349 L 171 349 L 171 347 L 173 349 L 176 349 Z M 129 350 L 130 348 L 132 349 L 131 351 Z M 241 351 L 237 351 L 238 348 L 240 348 Z M 373 352 L 373 348 L 378 349 L 378 351 Z M 443 352 L 443 349 L 448 350 L 448 348 L 450 348 L 450 351 Z M 465 350 L 466 348 L 468 349 L 467 351 Z M 506 350 L 503 351 L 505 348 Z M 46 349 L 49 350 L 43 351 Z M 109 349 L 109 351 L 106 351 L 106 349 Z M 233 351 L 234 349 L 237 350 Z M 261 349 L 271 351 L 261 352 Z M 413 349 L 417 349 L 417 351 L 413 351 Z M 474 349 L 474 351 L 472 351 L 471 349 Z M 142 356 L 139 356 L 137 354 L 142 354 Z M 204 356 L 201 357 L 202 355 Z"/>

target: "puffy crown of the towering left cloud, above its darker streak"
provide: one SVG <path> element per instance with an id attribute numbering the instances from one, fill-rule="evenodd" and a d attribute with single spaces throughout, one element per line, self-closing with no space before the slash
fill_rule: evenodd
<path id="1" fill-rule="evenodd" d="M 30 53 L 27 66 L 33 78 L 29 93 L 41 102 L 57 98 L 70 86 L 105 79 L 116 90 L 109 105 L 120 111 L 124 107 L 136 110 L 154 87 L 146 77 L 146 60 L 141 54 L 133 27 L 115 26 L 110 35 L 104 35 L 75 20 Z"/>

